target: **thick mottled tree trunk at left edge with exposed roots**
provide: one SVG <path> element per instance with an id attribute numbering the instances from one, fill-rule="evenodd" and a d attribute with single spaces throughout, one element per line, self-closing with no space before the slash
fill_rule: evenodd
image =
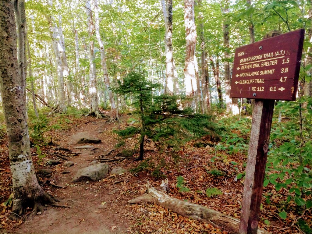
<path id="1" fill-rule="evenodd" d="M 18 11 L 25 12 L 24 1 L 16 1 Z M 42 210 L 41 203 L 54 199 L 38 184 L 32 163 L 26 108 L 24 102 L 25 76 L 17 64 L 17 35 L 11 0 L 0 1 L 0 86 L 2 105 L 7 126 L 10 168 L 12 173 L 13 207 L 12 218 L 17 218 L 23 209 L 34 206 Z M 22 58 L 19 58 L 21 61 Z M 15 214 L 17 214 L 17 216 Z"/>

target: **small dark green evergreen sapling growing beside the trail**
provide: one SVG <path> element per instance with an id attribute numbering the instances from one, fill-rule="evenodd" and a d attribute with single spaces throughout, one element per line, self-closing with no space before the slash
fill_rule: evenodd
<path id="1" fill-rule="evenodd" d="M 148 137 L 159 147 L 170 146 L 178 149 L 190 139 L 207 134 L 220 134 L 223 127 L 217 127 L 212 122 L 212 116 L 193 114 L 191 109 L 181 108 L 178 96 L 154 95 L 153 91 L 159 84 L 146 80 L 145 72 L 131 72 L 119 82 L 119 88 L 114 92 L 132 97 L 135 108 L 132 126 L 117 131 L 121 139 L 138 136 L 140 156 L 143 152 L 142 141 Z M 143 157 L 143 156 L 142 156 Z"/>

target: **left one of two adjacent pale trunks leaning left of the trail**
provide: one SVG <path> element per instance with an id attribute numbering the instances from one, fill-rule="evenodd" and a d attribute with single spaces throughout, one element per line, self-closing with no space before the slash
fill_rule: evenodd
<path id="1" fill-rule="evenodd" d="M 52 7 L 52 0 L 47 0 L 48 5 Z M 58 28 L 54 22 L 54 19 L 51 15 L 47 16 L 47 20 L 49 23 L 50 28 L 50 37 L 52 40 L 52 47 L 55 56 L 55 63 L 56 63 L 56 72 L 57 72 L 57 88 L 58 88 L 58 100 L 59 100 L 59 110 L 61 112 L 66 111 L 66 98 L 65 98 L 65 89 L 64 89 L 64 76 L 63 76 L 63 68 L 62 68 L 62 61 L 61 61 L 61 54 L 59 48 L 60 39 L 58 35 Z"/>

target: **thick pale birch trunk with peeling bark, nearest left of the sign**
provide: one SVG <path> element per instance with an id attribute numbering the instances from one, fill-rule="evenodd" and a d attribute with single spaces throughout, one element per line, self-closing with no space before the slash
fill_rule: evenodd
<path id="1" fill-rule="evenodd" d="M 188 106 L 195 109 L 197 82 L 195 75 L 196 61 L 196 26 L 194 18 L 194 0 L 184 0 L 184 25 L 186 39 L 186 55 L 185 55 L 185 94 L 190 99 Z"/>

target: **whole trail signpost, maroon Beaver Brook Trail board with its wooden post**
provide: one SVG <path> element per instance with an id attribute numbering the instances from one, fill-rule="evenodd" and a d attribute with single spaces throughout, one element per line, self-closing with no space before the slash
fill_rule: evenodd
<path id="1" fill-rule="evenodd" d="M 239 234 L 258 231 L 274 104 L 296 99 L 304 33 L 303 29 L 280 35 L 272 31 L 267 39 L 235 51 L 231 97 L 256 99 Z"/>

